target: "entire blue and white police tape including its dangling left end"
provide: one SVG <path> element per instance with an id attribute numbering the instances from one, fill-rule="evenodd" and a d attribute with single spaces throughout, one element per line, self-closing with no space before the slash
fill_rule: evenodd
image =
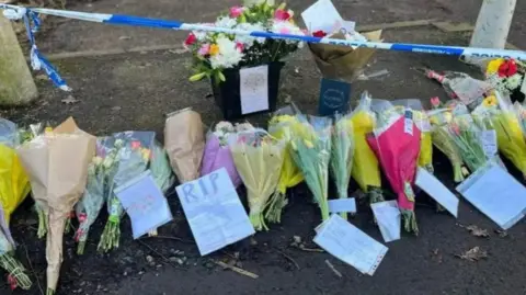
<path id="1" fill-rule="evenodd" d="M 365 47 L 395 52 L 409 52 L 409 53 L 422 53 L 422 54 L 436 54 L 436 55 L 449 55 L 458 57 L 478 57 L 478 58 L 514 58 L 517 60 L 526 60 L 526 52 L 523 50 L 507 50 L 507 49 L 491 49 L 491 48 L 474 48 L 474 47 L 460 47 L 460 46 L 445 46 L 445 45 L 426 45 L 426 44 L 410 44 L 410 43 L 380 43 L 380 42 L 357 42 L 335 39 L 328 37 L 313 37 L 306 35 L 291 35 L 291 34 L 277 34 L 272 32 L 260 31 L 243 31 L 229 27 L 217 27 L 204 24 L 183 23 L 179 21 L 168 21 L 161 19 L 150 19 L 134 15 L 124 14 L 107 14 L 107 13 L 91 13 L 79 12 L 68 10 L 56 9 L 43 9 L 43 8 L 23 8 L 11 4 L 1 4 L 0 9 L 4 10 L 4 15 L 11 20 L 23 19 L 26 23 L 27 35 L 32 44 L 32 60 L 37 59 L 34 64 L 41 66 L 55 84 L 64 90 L 68 87 L 64 80 L 58 76 L 54 67 L 39 54 L 36 48 L 33 33 L 35 33 L 39 26 L 37 14 L 48 14 L 60 18 L 106 23 L 113 25 L 128 25 L 128 26 L 146 26 L 156 29 L 180 30 L 180 31 L 203 31 L 203 32 L 217 32 L 236 35 L 250 35 L 253 37 L 264 38 L 277 38 L 277 39 L 294 39 L 306 43 L 320 43 L 332 44 L 352 47 Z M 32 63 L 33 64 L 33 63 Z M 34 67 L 35 68 L 35 67 Z M 54 80 L 55 79 L 55 80 Z"/>

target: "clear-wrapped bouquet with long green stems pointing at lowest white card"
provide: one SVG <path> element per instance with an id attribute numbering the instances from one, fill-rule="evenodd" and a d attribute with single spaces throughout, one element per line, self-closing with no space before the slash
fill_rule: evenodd
<path id="1" fill-rule="evenodd" d="M 331 159 L 331 125 L 328 117 L 297 115 L 304 124 L 299 133 L 293 135 L 290 154 L 301 170 L 315 202 L 321 211 L 322 220 L 329 219 L 329 162 Z"/>

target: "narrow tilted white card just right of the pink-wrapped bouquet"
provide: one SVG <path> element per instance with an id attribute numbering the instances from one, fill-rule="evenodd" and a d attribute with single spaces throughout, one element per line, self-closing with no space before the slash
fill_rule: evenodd
<path id="1" fill-rule="evenodd" d="M 419 167 L 414 184 L 433 197 L 433 200 L 446 208 L 453 216 L 458 217 L 458 197 L 436 179 L 435 175 L 424 168 Z"/>

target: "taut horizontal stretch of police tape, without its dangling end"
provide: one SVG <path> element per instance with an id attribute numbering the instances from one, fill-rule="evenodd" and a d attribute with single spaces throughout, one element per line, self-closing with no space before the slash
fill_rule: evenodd
<path id="1" fill-rule="evenodd" d="M 0 9 L 15 10 L 8 14 L 20 15 L 20 10 L 24 10 L 22 7 L 0 4 Z M 480 57 L 480 58 L 514 58 L 518 60 L 526 60 L 526 52 L 522 50 L 506 50 L 506 49 L 488 49 L 488 48 L 473 48 L 473 47 L 460 47 L 460 46 L 437 46 L 425 44 L 409 44 L 409 43 L 379 43 L 379 42 L 356 42 L 344 41 L 334 38 L 320 38 L 313 36 L 304 35 L 290 35 L 290 34 L 276 34 L 271 32 L 255 32 L 243 31 L 228 27 L 217 27 L 203 24 L 183 23 L 179 21 L 167 21 L 160 19 L 149 19 L 133 15 L 123 14 L 106 14 L 106 13 L 91 13 L 91 12 L 78 12 L 67 10 L 55 9 L 42 9 L 42 8 L 27 8 L 26 14 L 42 13 L 55 16 L 107 23 L 114 25 L 129 25 L 129 26 L 146 26 L 157 29 L 181 30 L 181 31 L 204 31 L 204 32 L 219 32 L 236 35 L 250 35 L 254 37 L 265 38 L 279 38 L 279 39 L 295 39 L 307 43 L 321 43 L 321 44 L 334 44 L 342 46 L 353 47 L 367 47 L 376 49 L 387 49 L 395 52 L 411 52 L 411 53 L 424 53 L 424 54 L 438 54 L 450 55 L 459 57 Z M 53 67 L 52 67 L 53 68 Z"/>

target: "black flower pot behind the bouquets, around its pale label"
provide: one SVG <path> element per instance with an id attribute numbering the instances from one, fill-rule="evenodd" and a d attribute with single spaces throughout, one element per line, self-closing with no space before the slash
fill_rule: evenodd
<path id="1" fill-rule="evenodd" d="M 211 90 L 216 104 L 221 109 L 222 116 L 227 121 L 241 118 L 245 115 L 272 112 L 276 110 L 277 92 L 279 89 L 279 75 L 282 72 L 284 63 L 275 61 L 268 65 L 268 110 L 259 111 L 254 113 L 244 113 L 241 107 L 241 86 L 240 86 L 240 69 L 226 69 L 222 71 L 226 80 L 217 83 L 211 78 Z M 262 98 L 265 99 L 265 98 Z"/>

